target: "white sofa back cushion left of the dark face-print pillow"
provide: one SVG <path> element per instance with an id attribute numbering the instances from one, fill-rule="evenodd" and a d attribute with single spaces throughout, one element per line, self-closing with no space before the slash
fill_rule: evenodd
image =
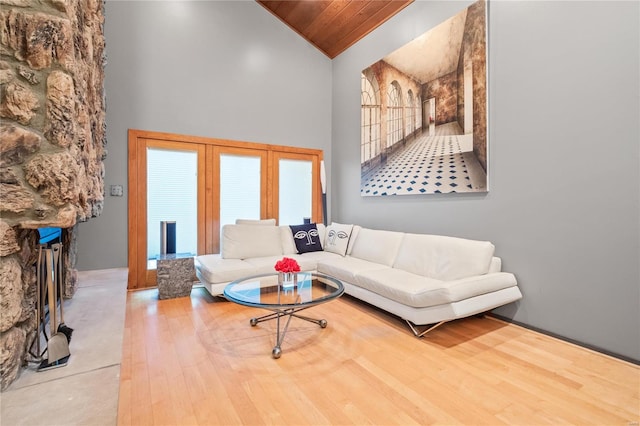
<path id="1" fill-rule="evenodd" d="M 221 245 L 223 259 L 282 254 L 280 229 L 277 226 L 224 225 Z"/>

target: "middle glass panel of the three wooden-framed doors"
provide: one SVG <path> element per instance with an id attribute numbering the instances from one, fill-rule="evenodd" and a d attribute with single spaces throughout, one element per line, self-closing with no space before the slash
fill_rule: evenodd
<path id="1" fill-rule="evenodd" d="M 220 228 L 260 219 L 260 157 L 220 155 Z"/>

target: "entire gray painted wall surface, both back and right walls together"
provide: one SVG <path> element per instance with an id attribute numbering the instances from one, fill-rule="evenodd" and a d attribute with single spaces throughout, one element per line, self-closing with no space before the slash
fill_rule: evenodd
<path id="1" fill-rule="evenodd" d="M 524 293 L 498 314 L 640 360 L 638 2 L 491 2 L 490 192 L 359 195 L 360 71 L 468 4 L 329 61 L 255 2 L 107 2 L 107 188 L 128 128 L 324 149 L 334 220 L 491 240 Z M 126 266 L 126 201 L 79 225 L 79 269 Z"/>

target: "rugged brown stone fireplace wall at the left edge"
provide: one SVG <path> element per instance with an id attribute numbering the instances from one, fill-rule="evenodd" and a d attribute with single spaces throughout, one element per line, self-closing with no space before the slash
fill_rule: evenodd
<path id="1" fill-rule="evenodd" d="M 104 200 L 102 0 L 0 0 L 0 379 L 37 335 L 40 227 L 61 227 L 65 297 L 75 289 L 74 225 Z M 71 253 L 71 255 L 68 255 Z"/>

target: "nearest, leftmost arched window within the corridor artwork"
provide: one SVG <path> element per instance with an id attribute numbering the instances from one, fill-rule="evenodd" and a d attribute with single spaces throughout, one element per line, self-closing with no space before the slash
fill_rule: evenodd
<path id="1" fill-rule="evenodd" d="M 360 162 L 380 154 L 380 90 L 370 70 L 361 74 Z"/>

